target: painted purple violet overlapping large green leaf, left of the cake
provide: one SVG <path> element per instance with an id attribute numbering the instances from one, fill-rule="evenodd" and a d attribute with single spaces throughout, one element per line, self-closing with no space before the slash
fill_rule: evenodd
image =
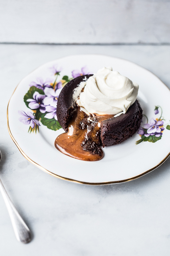
<path id="1" fill-rule="evenodd" d="M 53 90 L 52 88 L 46 88 L 48 90 Z M 45 95 L 39 94 L 38 92 L 35 92 L 33 94 L 33 99 L 27 99 L 28 102 L 30 102 L 28 104 L 30 109 L 40 109 L 41 113 L 45 113 L 46 112 L 46 106 L 44 106 L 43 104 L 43 99 L 45 98 Z"/>

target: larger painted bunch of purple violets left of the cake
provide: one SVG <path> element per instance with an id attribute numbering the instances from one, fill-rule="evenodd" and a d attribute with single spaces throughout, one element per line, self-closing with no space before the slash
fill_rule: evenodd
<path id="1" fill-rule="evenodd" d="M 30 89 L 24 96 L 24 102 L 27 108 L 32 112 L 18 111 L 20 122 L 30 125 L 28 132 L 39 132 L 39 126 L 45 125 L 48 129 L 57 131 L 61 128 L 56 115 L 57 100 L 62 88 L 73 78 L 89 74 L 86 66 L 81 70 L 73 70 L 72 77 L 64 75 L 60 77 L 62 68 L 57 64 L 49 68 L 54 75 L 54 79 L 37 78 L 36 81 L 30 83 Z M 41 124 L 40 124 L 41 122 Z"/>

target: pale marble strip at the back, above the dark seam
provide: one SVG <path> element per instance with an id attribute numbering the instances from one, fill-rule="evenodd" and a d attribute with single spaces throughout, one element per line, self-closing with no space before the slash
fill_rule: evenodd
<path id="1" fill-rule="evenodd" d="M 1 0 L 0 42 L 170 43 L 169 0 Z"/>

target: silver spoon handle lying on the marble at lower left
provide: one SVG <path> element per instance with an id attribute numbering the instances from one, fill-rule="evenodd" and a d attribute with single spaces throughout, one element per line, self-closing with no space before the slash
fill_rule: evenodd
<path id="1" fill-rule="evenodd" d="M 0 161 L 1 161 L 1 151 L 0 151 Z M 9 216 L 11 218 L 12 226 L 14 229 L 15 236 L 19 242 L 24 244 L 29 243 L 31 241 L 31 233 L 25 222 L 22 220 L 20 214 L 18 213 L 17 209 L 15 208 L 14 204 L 12 203 L 7 191 L 2 184 L 0 179 L 0 191 L 4 198 L 5 204 L 7 206 Z"/>

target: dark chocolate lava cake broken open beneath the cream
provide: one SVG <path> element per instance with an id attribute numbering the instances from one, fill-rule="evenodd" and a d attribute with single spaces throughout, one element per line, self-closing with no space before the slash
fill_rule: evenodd
<path id="1" fill-rule="evenodd" d="M 76 77 L 68 82 L 61 90 L 57 102 L 57 118 L 65 132 L 68 132 L 68 125 L 78 108 L 77 104 L 75 104 L 75 101 L 73 100 L 74 89 L 80 85 L 80 82 L 86 81 L 90 76 L 93 76 L 93 74 Z M 108 115 L 108 117 L 110 116 Z M 94 118 L 95 117 L 92 117 L 91 119 L 93 120 Z M 139 102 L 136 100 L 125 114 L 108 118 L 100 122 L 101 125 L 98 132 L 99 138 L 97 146 L 101 145 L 102 147 L 108 147 L 125 141 L 138 130 L 141 119 L 142 109 Z M 79 128 L 83 129 L 87 127 L 88 120 L 89 116 L 85 114 L 84 119 L 80 121 Z M 91 125 L 91 129 L 93 130 L 93 125 Z M 84 140 L 84 143 L 82 143 L 81 146 L 84 147 L 84 150 L 93 151 L 95 154 L 95 147 L 92 145 L 90 147 L 93 149 L 90 149 L 90 143 L 93 144 L 93 141 L 89 137 Z"/>

